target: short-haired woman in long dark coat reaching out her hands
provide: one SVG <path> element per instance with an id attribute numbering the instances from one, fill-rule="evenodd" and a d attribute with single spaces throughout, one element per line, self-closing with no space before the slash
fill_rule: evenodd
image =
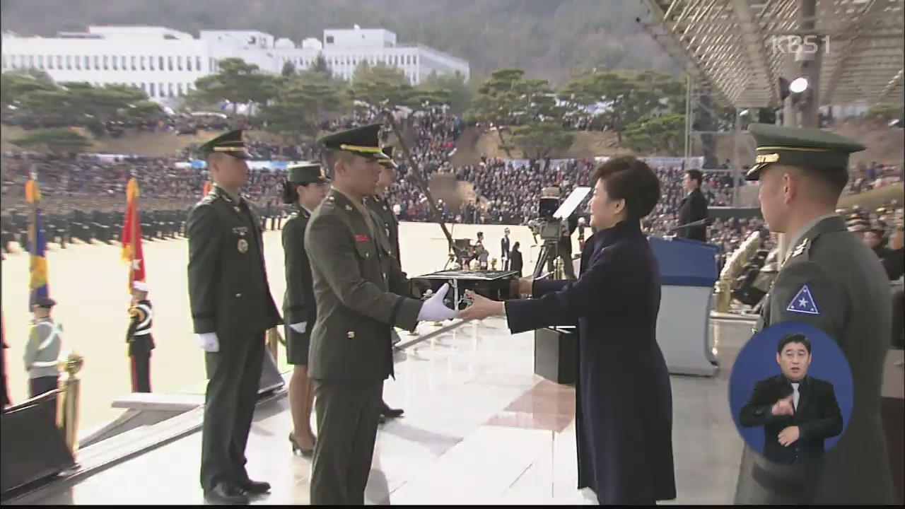
<path id="1" fill-rule="evenodd" d="M 595 170 L 591 236 L 577 281 L 519 280 L 534 299 L 505 303 L 466 293 L 460 317 L 505 315 L 512 333 L 578 325 L 578 488 L 601 504 L 675 498 L 672 389 L 657 345 L 660 272 L 641 218 L 660 198 L 643 161 L 614 158 Z"/>

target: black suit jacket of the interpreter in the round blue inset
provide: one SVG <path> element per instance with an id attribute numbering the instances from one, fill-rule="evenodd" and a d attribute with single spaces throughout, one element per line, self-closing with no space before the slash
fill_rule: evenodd
<path id="1" fill-rule="evenodd" d="M 773 405 L 792 394 L 786 377 L 776 375 L 754 385 L 748 403 L 741 408 L 738 422 L 743 427 L 764 427 L 764 457 L 785 465 L 806 463 L 824 456 L 824 440 L 843 432 L 843 416 L 836 402 L 833 384 L 805 377 L 798 386 L 798 407 L 791 416 L 774 416 Z M 799 437 L 788 447 L 779 444 L 779 433 L 797 426 Z"/>

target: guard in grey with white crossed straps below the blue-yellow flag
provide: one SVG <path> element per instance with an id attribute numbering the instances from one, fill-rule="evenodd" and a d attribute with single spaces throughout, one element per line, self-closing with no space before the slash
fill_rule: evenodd
<path id="1" fill-rule="evenodd" d="M 60 382 L 62 325 L 51 317 L 55 305 L 49 297 L 38 297 L 32 305 L 34 318 L 24 356 L 30 398 L 55 390 Z"/>

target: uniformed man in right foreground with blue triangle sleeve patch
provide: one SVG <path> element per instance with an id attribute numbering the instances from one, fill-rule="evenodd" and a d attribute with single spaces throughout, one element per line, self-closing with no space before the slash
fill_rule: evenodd
<path id="1" fill-rule="evenodd" d="M 819 327 L 852 369 L 853 409 L 843 436 L 815 464 L 778 465 L 746 446 L 738 504 L 891 504 L 890 462 L 881 423 L 881 379 L 889 348 L 890 304 L 877 256 L 834 212 L 848 181 L 848 158 L 864 147 L 819 129 L 753 124 L 771 231 L 789 236 L 789 252 L 767 294 L 756 331 L 779 322 Z M 795 428 L 789 447 L 801 431 Z M 797 434 L 797 435 L 795 435 Z"/>

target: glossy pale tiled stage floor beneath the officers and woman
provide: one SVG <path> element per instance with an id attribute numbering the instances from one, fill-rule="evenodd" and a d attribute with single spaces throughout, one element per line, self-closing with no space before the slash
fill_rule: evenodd
<path id="1" fill-rule="evenodd" d="M 710 326 L 717 376 L 672 377 L 678 498 L 668 504 L 731 504 L 735 492 L 742 442 L 729 416 L 728 379 L 751 324 Z M 533 351 L 532 333 L 510 336 L 505 322 L 487 320 L 398 352 L 396 380 L 384 394 L 405 416 L 379 431 L 367 504 L 582 504 L 574 389 L 535 375 Z M 7 503 L 203 504 L 198 410 L 175 418 L 185 432 L 159 447 Z M 291 455 L 290 429 L 284 394 L 259 404 L 248 470 L 273 489 L 255 504 L 309 503 L 310 460 Z"/>

